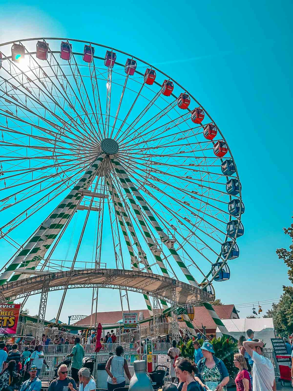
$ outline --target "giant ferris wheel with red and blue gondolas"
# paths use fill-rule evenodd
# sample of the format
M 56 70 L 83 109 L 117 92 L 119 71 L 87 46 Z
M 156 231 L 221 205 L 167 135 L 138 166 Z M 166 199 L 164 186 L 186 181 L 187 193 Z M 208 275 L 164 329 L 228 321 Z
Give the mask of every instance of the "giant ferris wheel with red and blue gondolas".
M 211 294 L 229 280 L 244 233 L 236 164 L 205 108 L 155 66 L 75 39 L 3 43 L 0 131 L 0 239 L 14 248 L 1 285 L 104 263 Z

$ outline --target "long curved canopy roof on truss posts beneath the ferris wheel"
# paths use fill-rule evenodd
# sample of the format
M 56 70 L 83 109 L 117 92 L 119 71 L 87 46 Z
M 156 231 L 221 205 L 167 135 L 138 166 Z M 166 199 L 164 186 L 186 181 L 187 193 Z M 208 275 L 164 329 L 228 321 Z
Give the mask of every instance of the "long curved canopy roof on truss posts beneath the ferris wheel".
M 85 288 L 98 285 L 101 288 L 126 289 L 128 291 L 158 296 L 171 300 L 171 288 L 176 288 L 178 305 L 197 305 L 202 301 L 214 300 L 214 296 L 188 283 L 153 273 L 119 269 L 83 269 L 52 272 L 32 276 L 23 280 L 1 285 L 0 292 L 13 300 L 41 292 L 43 284 L 49 281 L 49 291 Z

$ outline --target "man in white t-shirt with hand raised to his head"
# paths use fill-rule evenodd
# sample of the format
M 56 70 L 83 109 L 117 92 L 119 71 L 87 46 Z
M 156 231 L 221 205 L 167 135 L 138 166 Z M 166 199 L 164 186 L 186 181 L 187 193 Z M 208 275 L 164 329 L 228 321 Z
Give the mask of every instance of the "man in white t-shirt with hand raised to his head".
M 276 391 L 275 371 L 272 362 L 263 355 L 263 341 L 244 341 L 243 346 L 254 362 L 252 369 L 253 391 Z

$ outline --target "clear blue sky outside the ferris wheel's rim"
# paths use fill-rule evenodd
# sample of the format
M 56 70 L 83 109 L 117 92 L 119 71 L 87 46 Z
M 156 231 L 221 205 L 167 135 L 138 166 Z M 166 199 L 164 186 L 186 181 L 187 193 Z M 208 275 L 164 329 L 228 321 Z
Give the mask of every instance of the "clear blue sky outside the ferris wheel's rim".
M 119 48 L 188 86 L 211 113 L 229 142 L 245 203 L 240 257 L 229 264 L 230 280 L 215 283 L 227 304 L 279 298 L 288 283 L 275 249 L 290 244 L 282 227 L 292 215 L 292 8 L 289 1 L 1 3 L 1 42 L 66 37 Z M 46 318 L 55 316 L 59 297 L 50 294 Z M 138 295 L 130 305 L 145 308 Z M 37 313 L 38 296 L 27 306 Z M 88 295 L 80 300 L 80 291 L 70 291 L 61 319 L 90 307 Z M 98 308 L 120 309 L 118 292 L 102 291 Z M 243 308 L 240 317 L 250 313 Z

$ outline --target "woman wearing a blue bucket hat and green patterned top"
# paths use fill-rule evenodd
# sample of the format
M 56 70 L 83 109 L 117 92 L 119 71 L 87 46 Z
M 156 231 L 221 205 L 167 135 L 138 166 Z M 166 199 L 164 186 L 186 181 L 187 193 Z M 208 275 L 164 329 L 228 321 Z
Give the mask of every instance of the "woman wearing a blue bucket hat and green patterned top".
M 214 356 L 214 348 L 210 342 L 204 342 L 201 347 L 204 357 L 197 363 L 198 377 L 207 389 L 227 391 L 229 373 L 222 360 Z

